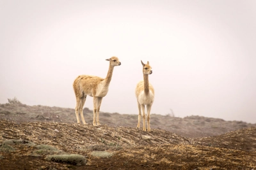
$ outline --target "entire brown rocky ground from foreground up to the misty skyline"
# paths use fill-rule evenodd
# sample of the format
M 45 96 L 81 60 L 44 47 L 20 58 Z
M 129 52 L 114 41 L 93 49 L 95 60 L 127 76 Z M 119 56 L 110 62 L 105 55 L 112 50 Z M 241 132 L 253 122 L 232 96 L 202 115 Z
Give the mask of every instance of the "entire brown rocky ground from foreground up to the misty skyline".
M 84 112 L 88 125 L 68 108 L 0 104 L 0 169 L 256 169 L 255 124 L 154 115 L 144 132 L 137 115 L 95 127 Z

